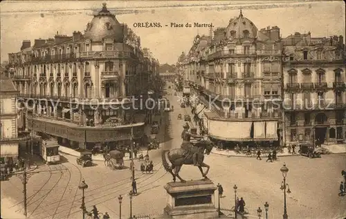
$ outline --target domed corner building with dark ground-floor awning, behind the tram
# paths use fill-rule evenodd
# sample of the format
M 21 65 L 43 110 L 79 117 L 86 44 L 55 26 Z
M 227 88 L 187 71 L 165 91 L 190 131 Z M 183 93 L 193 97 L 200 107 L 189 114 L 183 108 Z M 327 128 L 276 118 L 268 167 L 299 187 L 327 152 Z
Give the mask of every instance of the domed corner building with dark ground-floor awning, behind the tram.
M 147 54 L 140 37 L 119 23 L 105 3 L 84 34 L 57 33 L 35 39 L 33 46 L 23 41 L 19 53 L 9 54 L 21 120 L 27 129 L 80 148 L 123 144 L 131 126 L 136 139 L 143 137 L 147 111 L 134 111 L 134 106 L 147 98 L 159 66 Z

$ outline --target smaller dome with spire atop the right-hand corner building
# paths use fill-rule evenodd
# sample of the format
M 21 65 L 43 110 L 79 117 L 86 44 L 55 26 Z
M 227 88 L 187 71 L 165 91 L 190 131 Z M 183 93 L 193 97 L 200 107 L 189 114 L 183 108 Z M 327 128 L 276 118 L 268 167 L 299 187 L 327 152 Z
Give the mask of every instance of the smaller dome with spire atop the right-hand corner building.
M 242 9 L 240 9 L 239 17 L 230 19 L 230 23 L 226 28 L 227 39 L 239 39 L 239 38 L 256 38 L 257 27 L 255 24 L 243 16 Z

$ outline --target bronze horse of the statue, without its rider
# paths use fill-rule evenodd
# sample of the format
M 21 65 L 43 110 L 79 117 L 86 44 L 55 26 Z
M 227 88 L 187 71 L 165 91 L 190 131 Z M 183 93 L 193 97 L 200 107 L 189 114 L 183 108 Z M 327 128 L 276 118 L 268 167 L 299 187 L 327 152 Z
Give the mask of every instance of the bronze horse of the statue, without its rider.
M 197 152 L 198 157 L 197 161 L 199 163 L 199 171 L 201 171 L 203 178 L 208 179 L 207 174 L 210 169 L 210 166 L 203 162 L 204 154 L 209 155 L 212 151 L 212 147 L 214 144 L 209 140 L 200 140 L 194 147 L 186 153 L 184 149 L 172 149 L 170 151 L 165 150 L 162 152 L 162 163 L 167 172 L 170 172 L 173 176 L 173 181 L 176 182 L 176 177 L 181 180 L 181 182 L 185 182 L 180 175 L 179 171 L 181 170 L 181 166 L 185 165 L 193 165 L 192 155 Z M 170 163 L 169 163 L 169 162 Z M 202 167 L 206 167 L 206 173 L 203 173 Z

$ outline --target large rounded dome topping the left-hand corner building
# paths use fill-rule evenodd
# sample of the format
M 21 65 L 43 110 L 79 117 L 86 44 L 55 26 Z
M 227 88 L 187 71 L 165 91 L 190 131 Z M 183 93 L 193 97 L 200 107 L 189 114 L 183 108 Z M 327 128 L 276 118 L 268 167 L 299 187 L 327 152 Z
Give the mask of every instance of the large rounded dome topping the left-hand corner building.
M 102 41 L 104 37 L 111 37 L 116 43 L 122 43 L 123 26 L 116 16 L 107 10 L 106 3 L 102 5 L 102 10 L 98 12 L 98 15 L 94 15 L 91 22 L 87 24 L 84 38 L 91 39 L 91 41 Z

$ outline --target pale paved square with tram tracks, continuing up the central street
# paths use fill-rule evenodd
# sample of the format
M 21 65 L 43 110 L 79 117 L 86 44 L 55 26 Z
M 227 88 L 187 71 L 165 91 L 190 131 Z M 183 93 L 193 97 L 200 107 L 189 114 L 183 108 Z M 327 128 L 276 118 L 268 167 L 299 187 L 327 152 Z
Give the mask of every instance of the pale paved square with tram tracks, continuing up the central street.
M 177 148 L 181 144 L 183 120 L 177 120 L 179 113 L 190 113 L 190 108 L 180 108 L 176 97 L 168 96 L 174 111 L 167 113 L 165 122 L 169 131 L 165 135 L 165 143 L 161 149 Z M 175 100 L 174 100 L 175 99 Z M 163 124 L 164 126 L 165 124 Z M 161 128 L 161 132 L 164 129 Z M 161 133 L 163 135 L 163 133 Z M 172 180 L 161 165 L 161 149 L 150 151 L 154 161 L 153 174 L 142 174 L 136 171 L 138 196 L 132 200 L 133 213 L 162 213 L 166 204 L 163 186 Z M 75 166 L 75 158 L 65 156 L 61 165 L 42 166 L 39 170 L 69 169 L 51 173 L 33 175 L 28 183 L 28 211 L 30 218 L 80 218 L 81 191 L 78 184 L 85 178 L 89 188 L 86 190 L 86 207 L 91 209 L 96 204 L 99 211 L 107 211 L 111 218 L 119 218 L 119 194 L 122 200 L 122 216 L 129 216 L 129 197 L 131 189 L 130 171 L 124 169 L 111 171 L 104 167 L 103 162 L 97 166 L 82 169 Z M 283 162 L 289 168 L 287 182 L 292 191 L 287 198 L 289 218 L 342 218 L 346 217 L 346 196 L 338 197 L 338 186 L 342 180 L 340 172 L 346 169 L 345 154 L 325 155 L 320 159 L 309 159 L 302 156 L 280 158 L 280 161 L 266 163 L 255 158 L 227 158 L 221 155 L 209 155 L 206 163 L 211 169 L 209 178 L 224 187 L 225 198 L 221 199 L 221 207 L 230 208 L 234 204 L 233 185 L 239 188 L 237 195 L 244 197 L 246 207 L 252 215 L 256 209 L 264 209 L 264 202 L 270 204 L 269 218 L 282 218 L 283 193 L 280 190 L 282 174 L 280 167 Z M 125 162 L 129 166 L 129 162 Z M 139 164 L 136 164 L 136 168 Z M 201 173 L 194 166 L 183 166 L 181 177 L 185 180 L 200 179 Z M 46 184 L 44 184 L 47 182 Z M 53 189 L 52 189 L 53 188 Z M 10 196 L 20 202 L 22 200 L 20 180 L 11 178 L 9 182 L 1 182 L 1 196 Z M 31 196 L 41 189 L 35 197 Z M 52 190 L 51 190 L 52 189 Z M 19 205 L 20 206 L 20 205 Z M 15 208 L 13 208 L 15 209 Z M 68 217 L 69 216 L 69 217 Z M 250 217 L 251 218 L 251 217 Z

